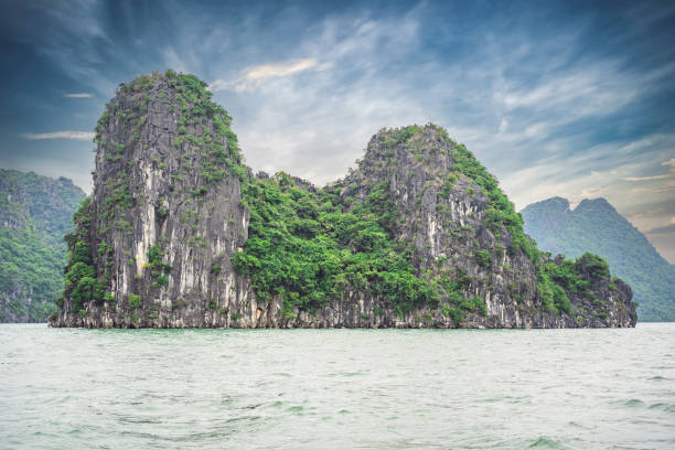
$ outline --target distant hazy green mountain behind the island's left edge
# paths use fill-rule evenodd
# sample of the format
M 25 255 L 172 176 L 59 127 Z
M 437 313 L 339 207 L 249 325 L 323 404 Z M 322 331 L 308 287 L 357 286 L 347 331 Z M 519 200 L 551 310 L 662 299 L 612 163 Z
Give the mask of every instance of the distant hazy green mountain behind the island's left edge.
M 0 322 L 45 322 L 56 309 L 63 237 L 84 197 L 68 179 L 0 169 Z

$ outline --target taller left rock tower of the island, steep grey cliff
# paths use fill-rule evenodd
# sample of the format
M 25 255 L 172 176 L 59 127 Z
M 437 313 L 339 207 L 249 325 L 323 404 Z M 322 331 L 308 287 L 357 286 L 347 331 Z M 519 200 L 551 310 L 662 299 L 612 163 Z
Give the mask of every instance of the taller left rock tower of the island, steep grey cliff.
M 231 258 L 247 237 L 249 171 L 232 118 L 205 87 L 173 71 L 141 75 L 106 106 L 94 192 L 67 236 L 73 257 L 52 323 L 223 326 L 221 310 L 242 314 L 231 300 L 247 285 Z

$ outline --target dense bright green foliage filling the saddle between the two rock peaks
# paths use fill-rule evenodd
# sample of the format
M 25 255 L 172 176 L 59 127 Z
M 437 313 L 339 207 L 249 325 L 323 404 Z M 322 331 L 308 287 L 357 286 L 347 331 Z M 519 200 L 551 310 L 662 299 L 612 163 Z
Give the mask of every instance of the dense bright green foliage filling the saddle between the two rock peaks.
M 401 312 L 438 301 L 416 276 L 411 250 L 392 239 L 386 190 L 350 211 L 336 192 L 302 189 L 285 173 L 253 179 L 244 193 L 250 236 L 235 268 L 251 277 L 261 299 L 283 298 L 286 314 L 325 306 L 346 287 L 388 298 Z

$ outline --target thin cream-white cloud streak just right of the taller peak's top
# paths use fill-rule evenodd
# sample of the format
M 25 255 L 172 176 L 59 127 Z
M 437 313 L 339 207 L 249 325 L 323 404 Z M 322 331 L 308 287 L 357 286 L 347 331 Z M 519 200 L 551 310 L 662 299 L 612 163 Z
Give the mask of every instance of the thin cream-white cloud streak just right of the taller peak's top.
M 309 69 L 325 69 L 330 64 L 319 64 L 317 60 L 308 57 L 303 60 L 289 60 L 280 63 L 260 64 L 245 69 L 237 79 L 226 82 L 216 79 L 210 84 L 212 92 L 234 89 L 236 92 L 255 90 L 265 81 L 276 77 L 285 77 Z

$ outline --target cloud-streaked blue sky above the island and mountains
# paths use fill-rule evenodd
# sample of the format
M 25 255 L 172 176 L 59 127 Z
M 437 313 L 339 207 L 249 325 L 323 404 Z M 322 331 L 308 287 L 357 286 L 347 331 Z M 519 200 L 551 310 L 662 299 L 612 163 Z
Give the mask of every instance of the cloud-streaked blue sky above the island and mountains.
M 436 122 L 522 208 L 604 196 L 675 261 L 675 3 L 3 1 L 0 165 L 90 189 L 121 82 L 206 81 L 247 163 L 318 184 Z

